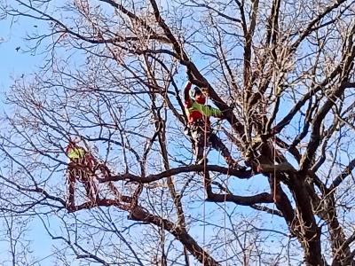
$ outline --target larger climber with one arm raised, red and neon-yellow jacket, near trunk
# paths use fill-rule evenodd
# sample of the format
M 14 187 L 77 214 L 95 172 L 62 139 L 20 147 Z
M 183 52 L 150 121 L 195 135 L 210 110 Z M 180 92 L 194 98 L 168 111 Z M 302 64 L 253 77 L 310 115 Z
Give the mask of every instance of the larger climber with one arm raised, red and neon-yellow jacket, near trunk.
M 229 153 L 220 138 L 212 132 L 210 127 L 209 117 L 223 118 L 223 113 L 217 108 L 205 106 L 206 97 L 202 90 L 199 87 L 194 87 L 193 89 L 191 87 L 192 83 L 190 81 L 186 82 L 184 98 L 188 126 L 193 137 L 195 163 L 202 164 L 204 162 L 204 147 L 210 144 L 222 154 L 229 167 L 245 169 L 233 160 L 231 153 Z M 205 136 L 207 139 L 205 139 Z

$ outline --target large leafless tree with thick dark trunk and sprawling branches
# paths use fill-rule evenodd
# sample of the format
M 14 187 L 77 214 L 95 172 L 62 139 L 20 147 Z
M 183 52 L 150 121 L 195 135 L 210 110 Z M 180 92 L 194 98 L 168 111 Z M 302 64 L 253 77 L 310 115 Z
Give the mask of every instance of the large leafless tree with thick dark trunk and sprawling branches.
M 7 92 L 3 211 L 39 217 L 67 265 L 353 265 L 354 7 L 3 4 L 47 53 Z M 245 170 L 215 152 L 193 164 L 186 80 L 224 113 L 217 135 Z M 102 168 L 98 200 L 78 185 L 67 209 L 73 137 Z

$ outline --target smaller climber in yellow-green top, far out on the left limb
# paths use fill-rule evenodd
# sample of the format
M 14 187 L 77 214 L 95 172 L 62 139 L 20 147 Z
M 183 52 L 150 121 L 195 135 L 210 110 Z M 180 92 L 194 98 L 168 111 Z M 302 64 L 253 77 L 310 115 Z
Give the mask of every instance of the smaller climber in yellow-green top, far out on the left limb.
M 86 191 L 86 196 L 95 203 L 99 200 L 98 187 L 94 183 L 95 166 L 98 164 L 95 158 L 85 151 L 85 149 L 70 140 L 66 149 L 69 162 L 67 164 L 67 182 L 68 182 L 68 197 L 67 208 L 75 209 L 75 182 L 78 180 L 83 183 Z

